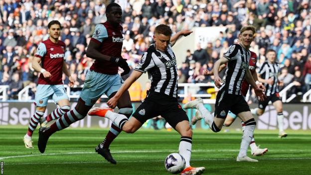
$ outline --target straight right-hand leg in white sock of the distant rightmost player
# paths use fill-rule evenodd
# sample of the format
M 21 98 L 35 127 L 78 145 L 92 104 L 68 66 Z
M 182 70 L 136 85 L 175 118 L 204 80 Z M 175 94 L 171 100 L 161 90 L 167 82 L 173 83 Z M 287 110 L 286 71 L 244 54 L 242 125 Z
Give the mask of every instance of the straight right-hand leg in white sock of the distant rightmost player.
M 274 95 L 275 96 L 275 95 Z M 284 115 L 283 115 L 283 104 L 282 101 L 277 97 L 273 97 L 271 99 L 273 106 L 276 108 L 278 116 L 278 126 L 279 126 L 279 137 L 283 138 L 283 137 L 287 137 L 287 133 L 284 131 Z

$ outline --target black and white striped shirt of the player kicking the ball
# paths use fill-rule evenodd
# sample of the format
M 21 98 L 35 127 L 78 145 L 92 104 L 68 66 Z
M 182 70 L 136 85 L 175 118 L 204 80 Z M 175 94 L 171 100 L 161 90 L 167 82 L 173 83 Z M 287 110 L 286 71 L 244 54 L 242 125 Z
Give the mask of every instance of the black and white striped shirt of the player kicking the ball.
M 177 98 L 177 65 L 170 44 L 165 52 L 155 49 L 155 44 L 151 44 L 135 70 L 148 72 L 151 80 L 150 92 Z

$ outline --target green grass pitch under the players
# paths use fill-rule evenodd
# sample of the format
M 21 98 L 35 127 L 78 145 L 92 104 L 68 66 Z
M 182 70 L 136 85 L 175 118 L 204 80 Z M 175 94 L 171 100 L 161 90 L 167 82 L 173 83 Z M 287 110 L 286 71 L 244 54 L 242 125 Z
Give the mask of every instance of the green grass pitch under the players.
M 230 129 L 230 128 L 229 128 Z M 4 175 L 169 175 L 165 157 L 178 152 L 179 135 L 175 131 L 141 129 L 135 134 L 122 133 L 111 145 L 117 165 L 95 153 L 95 147 L 108 130 L 66 129 L 49 139 L 44 154 L 26 149 L 22 137 L 26 127 L 0 128 L 0 161 Z M 285 139 L 277 131 L 255 131 L 257 145 L 269 152 L 258 163 L 235 161 L 241 132 L 212 133 L 194 130 L 191 165 L 205 167 L 206 175 L 311 175 L 310 131 L 288 131 Z M 248 152 L 250 155 L 250 149 Z M 252 157 L 254 158 L 254 157 Z

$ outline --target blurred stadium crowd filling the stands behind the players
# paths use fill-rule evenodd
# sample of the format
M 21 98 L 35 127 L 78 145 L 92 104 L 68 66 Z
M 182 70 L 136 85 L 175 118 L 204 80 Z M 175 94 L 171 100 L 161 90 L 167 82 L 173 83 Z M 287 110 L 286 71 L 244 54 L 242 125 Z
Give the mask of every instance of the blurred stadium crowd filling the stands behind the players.
M 75 87 L 84 83 L 93 60 L 86 47 L 95 25 L 106 21 L 110 0 L 0 0 L 0 85 L 9 85 L 8 96 L 30 85 L 34 97 L 38 73 L 31 60 L 39 42 L 48 38 L 47 23 L 59 20 L 61 40 L 66 44 L 66 63 Z M 198 43 L 186 51 L 178 70 L 179 83 L 211 83 L 203 76 L 213 63 L 237 43 L 244 25 L 257 28 L 251 49 L 258 55 L 257 66 L 274 49 L 282 65 L 282 87 L 295 82 L 292 94 L 311 89 L 311 2 L 309 0 L 115 0 L 123 9 L 123 52 L 133 68 L 153 41 L 155 26 L 167 24 L 173 34 L 181 29 L 226 26 L 219 38 L 206 48 Z M 223 73 L 224 74 L 224 73 Z M 65 84 L 68 80 L 63 76 Z M 139 84 L 136 85 L 140 87 Z M 135 87 L 134 87 L 135 88 Z M 75 93 L 72 91 L 72 93 Z M 78 93 L 78 92 L 77 92 Z M 207 93 L 203 90 L 202 93 Z M 139 101 L 139 99 L 138 99 Z

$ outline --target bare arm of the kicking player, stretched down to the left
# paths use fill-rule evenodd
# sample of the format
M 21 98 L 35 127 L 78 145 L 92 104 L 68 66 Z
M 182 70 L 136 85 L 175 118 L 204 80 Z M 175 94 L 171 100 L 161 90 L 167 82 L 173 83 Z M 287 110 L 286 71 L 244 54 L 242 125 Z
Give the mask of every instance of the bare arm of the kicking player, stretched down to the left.
M 141 77 L 143 72 L 134 70 L 129 78 L 125 80 L 121 88 L 118 90 L 115 96 L 113 96 L 111 99 L 108 100 L 107 105 L 110 108 L 115 108 L 118 104 L 118 100 L 121 97 L 121 95 L 130 88 L 130 86 L 139 78 Z

